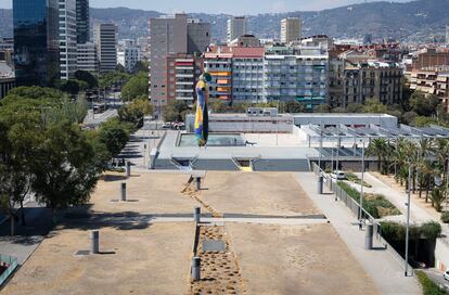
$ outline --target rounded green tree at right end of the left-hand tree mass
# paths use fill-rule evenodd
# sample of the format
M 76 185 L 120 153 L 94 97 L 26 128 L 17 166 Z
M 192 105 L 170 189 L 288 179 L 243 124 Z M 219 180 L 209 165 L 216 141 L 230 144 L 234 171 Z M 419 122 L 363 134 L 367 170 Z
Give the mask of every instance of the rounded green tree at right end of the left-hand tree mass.
M 117 118 L 106 120 L 100 126 L 99 141 L 104 144 L 112 157 L 116 157 L 128 142 L 131 127 Z

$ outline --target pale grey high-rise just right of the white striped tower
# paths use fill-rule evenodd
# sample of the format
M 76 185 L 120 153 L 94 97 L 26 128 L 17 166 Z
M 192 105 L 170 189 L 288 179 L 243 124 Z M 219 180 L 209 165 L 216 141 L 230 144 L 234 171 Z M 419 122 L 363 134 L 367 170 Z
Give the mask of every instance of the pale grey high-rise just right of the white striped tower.
M 93 38 L 100 72 L 112 72 L 117 66 L 117 27 L 114 24 L 95 24 Z

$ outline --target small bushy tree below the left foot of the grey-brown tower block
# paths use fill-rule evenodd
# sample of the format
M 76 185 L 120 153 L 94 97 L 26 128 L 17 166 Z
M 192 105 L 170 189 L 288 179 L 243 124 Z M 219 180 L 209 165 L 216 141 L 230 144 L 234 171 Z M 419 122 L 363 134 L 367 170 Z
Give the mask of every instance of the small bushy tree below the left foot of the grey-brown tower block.
M 153 107 L 150 104 L 147 98 L 137 98 L 129 104 L 124 105 L 118 110 L 118 117 L 121 121 L 132 124 L 134 128 L 141 128 L 143 126 L 143 118 L 145 115 L 150 115 L 153 112 Z

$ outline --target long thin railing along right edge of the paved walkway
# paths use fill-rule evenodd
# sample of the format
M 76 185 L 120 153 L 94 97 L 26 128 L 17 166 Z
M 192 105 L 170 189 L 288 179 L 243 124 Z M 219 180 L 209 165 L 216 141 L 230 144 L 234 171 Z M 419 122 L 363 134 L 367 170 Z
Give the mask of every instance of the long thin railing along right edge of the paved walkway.
M 328 174 L 325 174 L 325 171 L 323 171 L 321 168 L 318 167 L 317 164 L 312 164 L 312 169 L 313 172 L 319 176 L 321 175 L 324 178 L 324 182 L 328 187 L 329 190 L 331 190 L 335 196 L 337 198 L 339 198 L 345 205 L 346 207 L 348 207 L 350 209 L 350 211 L 359 217 L 360 213 L 361 216 L 359 217 L 359 219 L 364 220 L 364 221 L 369 221 L 374 226 L 374 238 L 385 247 L 386 251 L 388 251 L 393 258 L 398 261 L 401 265 L 406 264 L 406 260 L 402 258 L 402 256 L 396 252 L 396 249 L 388 244 L 388 242 L 382 236 L 382 226 L 381 223 L 374 218 L 372 217 L 365 209 L 361 208 L 360 210 L 360 205 L 359 203 L 357 203 L 357 201 L 355 201 L 352 197 L 350 197 L 337 183 L 336 180 L 332 179 L 331 176 L 329 176 Z M 409 265 L 409 269 L 412 271 L 411 274 L 413 274 L 413 268 Z

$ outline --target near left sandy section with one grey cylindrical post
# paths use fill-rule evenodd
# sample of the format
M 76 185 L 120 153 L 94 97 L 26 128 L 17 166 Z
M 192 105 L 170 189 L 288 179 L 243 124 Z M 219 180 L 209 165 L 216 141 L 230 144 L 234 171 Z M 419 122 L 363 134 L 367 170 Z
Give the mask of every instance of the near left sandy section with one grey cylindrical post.
M 100 251 L 115 254 L 75 257 L 89 249 L 89 232 L 55 231 L 1 294 L 185 294 L 193 236 L 191 223 L 104 228 Z

